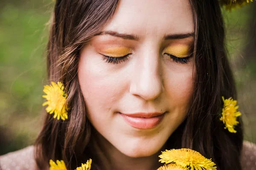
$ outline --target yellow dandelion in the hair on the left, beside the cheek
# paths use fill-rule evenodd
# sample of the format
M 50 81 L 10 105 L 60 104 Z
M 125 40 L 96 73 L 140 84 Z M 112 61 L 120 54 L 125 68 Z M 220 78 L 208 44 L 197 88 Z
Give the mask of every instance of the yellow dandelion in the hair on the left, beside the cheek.
M 44 98 L 47 99 L 46 102 L 43 103 L 43 106 L 48 105 L 46 108 L 47 113 L 54 113 L 53 118 L 59 120 L 67 119 L 67 106 L 65 106 L 65 102 L 67 100 L 67 94 L 64 92 L 64 86 L 61 82 L 52 82 L 52 85 L 44 86 Z

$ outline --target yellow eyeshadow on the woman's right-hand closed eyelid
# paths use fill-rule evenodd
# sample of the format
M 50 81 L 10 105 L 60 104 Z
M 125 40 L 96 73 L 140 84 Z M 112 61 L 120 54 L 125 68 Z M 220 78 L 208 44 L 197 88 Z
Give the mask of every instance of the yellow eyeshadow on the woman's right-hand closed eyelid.
M 190 50 L 190 46 L 188 45 L 172 45 L 169 47 L 166 47 L 163 50 L 163 54 L 171 54 L 175 57 L 188 57 L 189 56 L 189 50 Z

